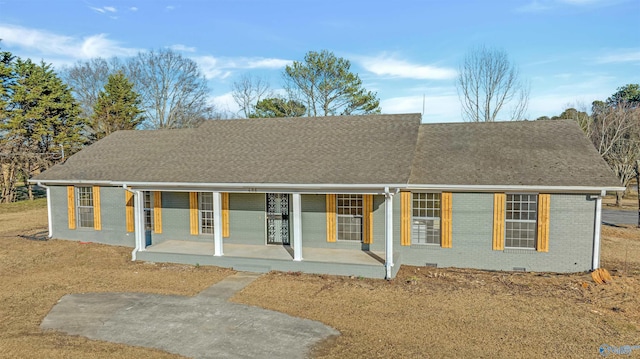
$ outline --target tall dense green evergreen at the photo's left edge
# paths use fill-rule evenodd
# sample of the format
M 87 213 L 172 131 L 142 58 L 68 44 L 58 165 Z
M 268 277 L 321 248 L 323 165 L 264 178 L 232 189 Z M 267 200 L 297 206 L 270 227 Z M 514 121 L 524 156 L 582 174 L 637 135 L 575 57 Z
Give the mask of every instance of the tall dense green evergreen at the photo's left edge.
M 63 153 L 80 149 L 85 143 L 84 122 L 70 89 L 44 62 L 8 62 L 0 87 L 0 201 L 12 202 L 17 180 L 27 180 L 60 161 Z

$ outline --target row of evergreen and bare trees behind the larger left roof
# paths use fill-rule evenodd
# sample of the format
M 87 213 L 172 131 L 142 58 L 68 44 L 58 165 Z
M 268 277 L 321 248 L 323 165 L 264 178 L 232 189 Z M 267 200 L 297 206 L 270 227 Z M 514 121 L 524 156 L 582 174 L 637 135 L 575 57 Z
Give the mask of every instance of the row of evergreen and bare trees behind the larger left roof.
M 238 114 L 218 110 L 195 61 L 170 50 L 95 58 L 62 68 L 0 51 L 0 203 L 65 157 L 118 130 L 195 127 L 229 117 L 379 113 L 348 60 L 310 51 L 286 66 L 285 91 L 245 76 L 232 86 Z

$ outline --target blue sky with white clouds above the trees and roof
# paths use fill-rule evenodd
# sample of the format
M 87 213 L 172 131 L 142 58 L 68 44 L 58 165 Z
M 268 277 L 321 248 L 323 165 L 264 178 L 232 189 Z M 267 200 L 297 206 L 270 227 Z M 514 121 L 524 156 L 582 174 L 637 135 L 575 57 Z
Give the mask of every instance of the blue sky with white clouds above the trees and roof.
M 198 62 L 211 100 L 237 111 L 244 74 L 281 87 L 285 65 L 323 49 L 351 61 L 383 113 L 459 122 L 465 53 L 505 50 L 531 84 L 528 118 L 640 83 L 639 0 L 0 0 L 0 48 L 57 68 L 169 47 Z

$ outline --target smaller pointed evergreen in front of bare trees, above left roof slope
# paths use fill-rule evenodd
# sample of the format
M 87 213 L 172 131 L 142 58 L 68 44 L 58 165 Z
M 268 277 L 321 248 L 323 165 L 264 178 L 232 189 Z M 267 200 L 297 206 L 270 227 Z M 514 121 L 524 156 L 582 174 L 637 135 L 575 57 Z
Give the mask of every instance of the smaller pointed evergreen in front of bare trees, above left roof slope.
M 110 75 L 91 117 L 93 137 L 99 140 L 118 130 L 136 129 L 144 121 L 140 103 L 140 95 L 122 72 Z

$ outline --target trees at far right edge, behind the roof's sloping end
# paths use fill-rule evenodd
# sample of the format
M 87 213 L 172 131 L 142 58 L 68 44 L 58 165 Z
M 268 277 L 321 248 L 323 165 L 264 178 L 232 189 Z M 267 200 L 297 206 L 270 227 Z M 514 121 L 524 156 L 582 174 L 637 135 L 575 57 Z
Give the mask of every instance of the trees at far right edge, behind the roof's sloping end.
M 622 86 L 606 100 L 594 101 L 590 110 L 568 108 L 538 120 L 575 120 L 628 190 L 633 178 L 640 177 L 640 85 Z M 617 193 L 617 205 L 623 194 Z

